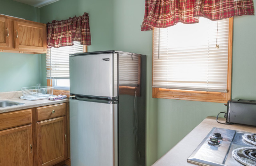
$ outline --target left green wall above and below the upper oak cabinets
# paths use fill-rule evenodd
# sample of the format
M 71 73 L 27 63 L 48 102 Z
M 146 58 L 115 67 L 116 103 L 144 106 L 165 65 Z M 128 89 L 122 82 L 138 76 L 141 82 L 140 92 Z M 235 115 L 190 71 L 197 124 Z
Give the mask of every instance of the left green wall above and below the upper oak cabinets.
M 0 0 L 0 14 L 40 21 L 39 8 Z M 41 55 L 0 52 L 0 92 L 17 91 L 42 81 Z

